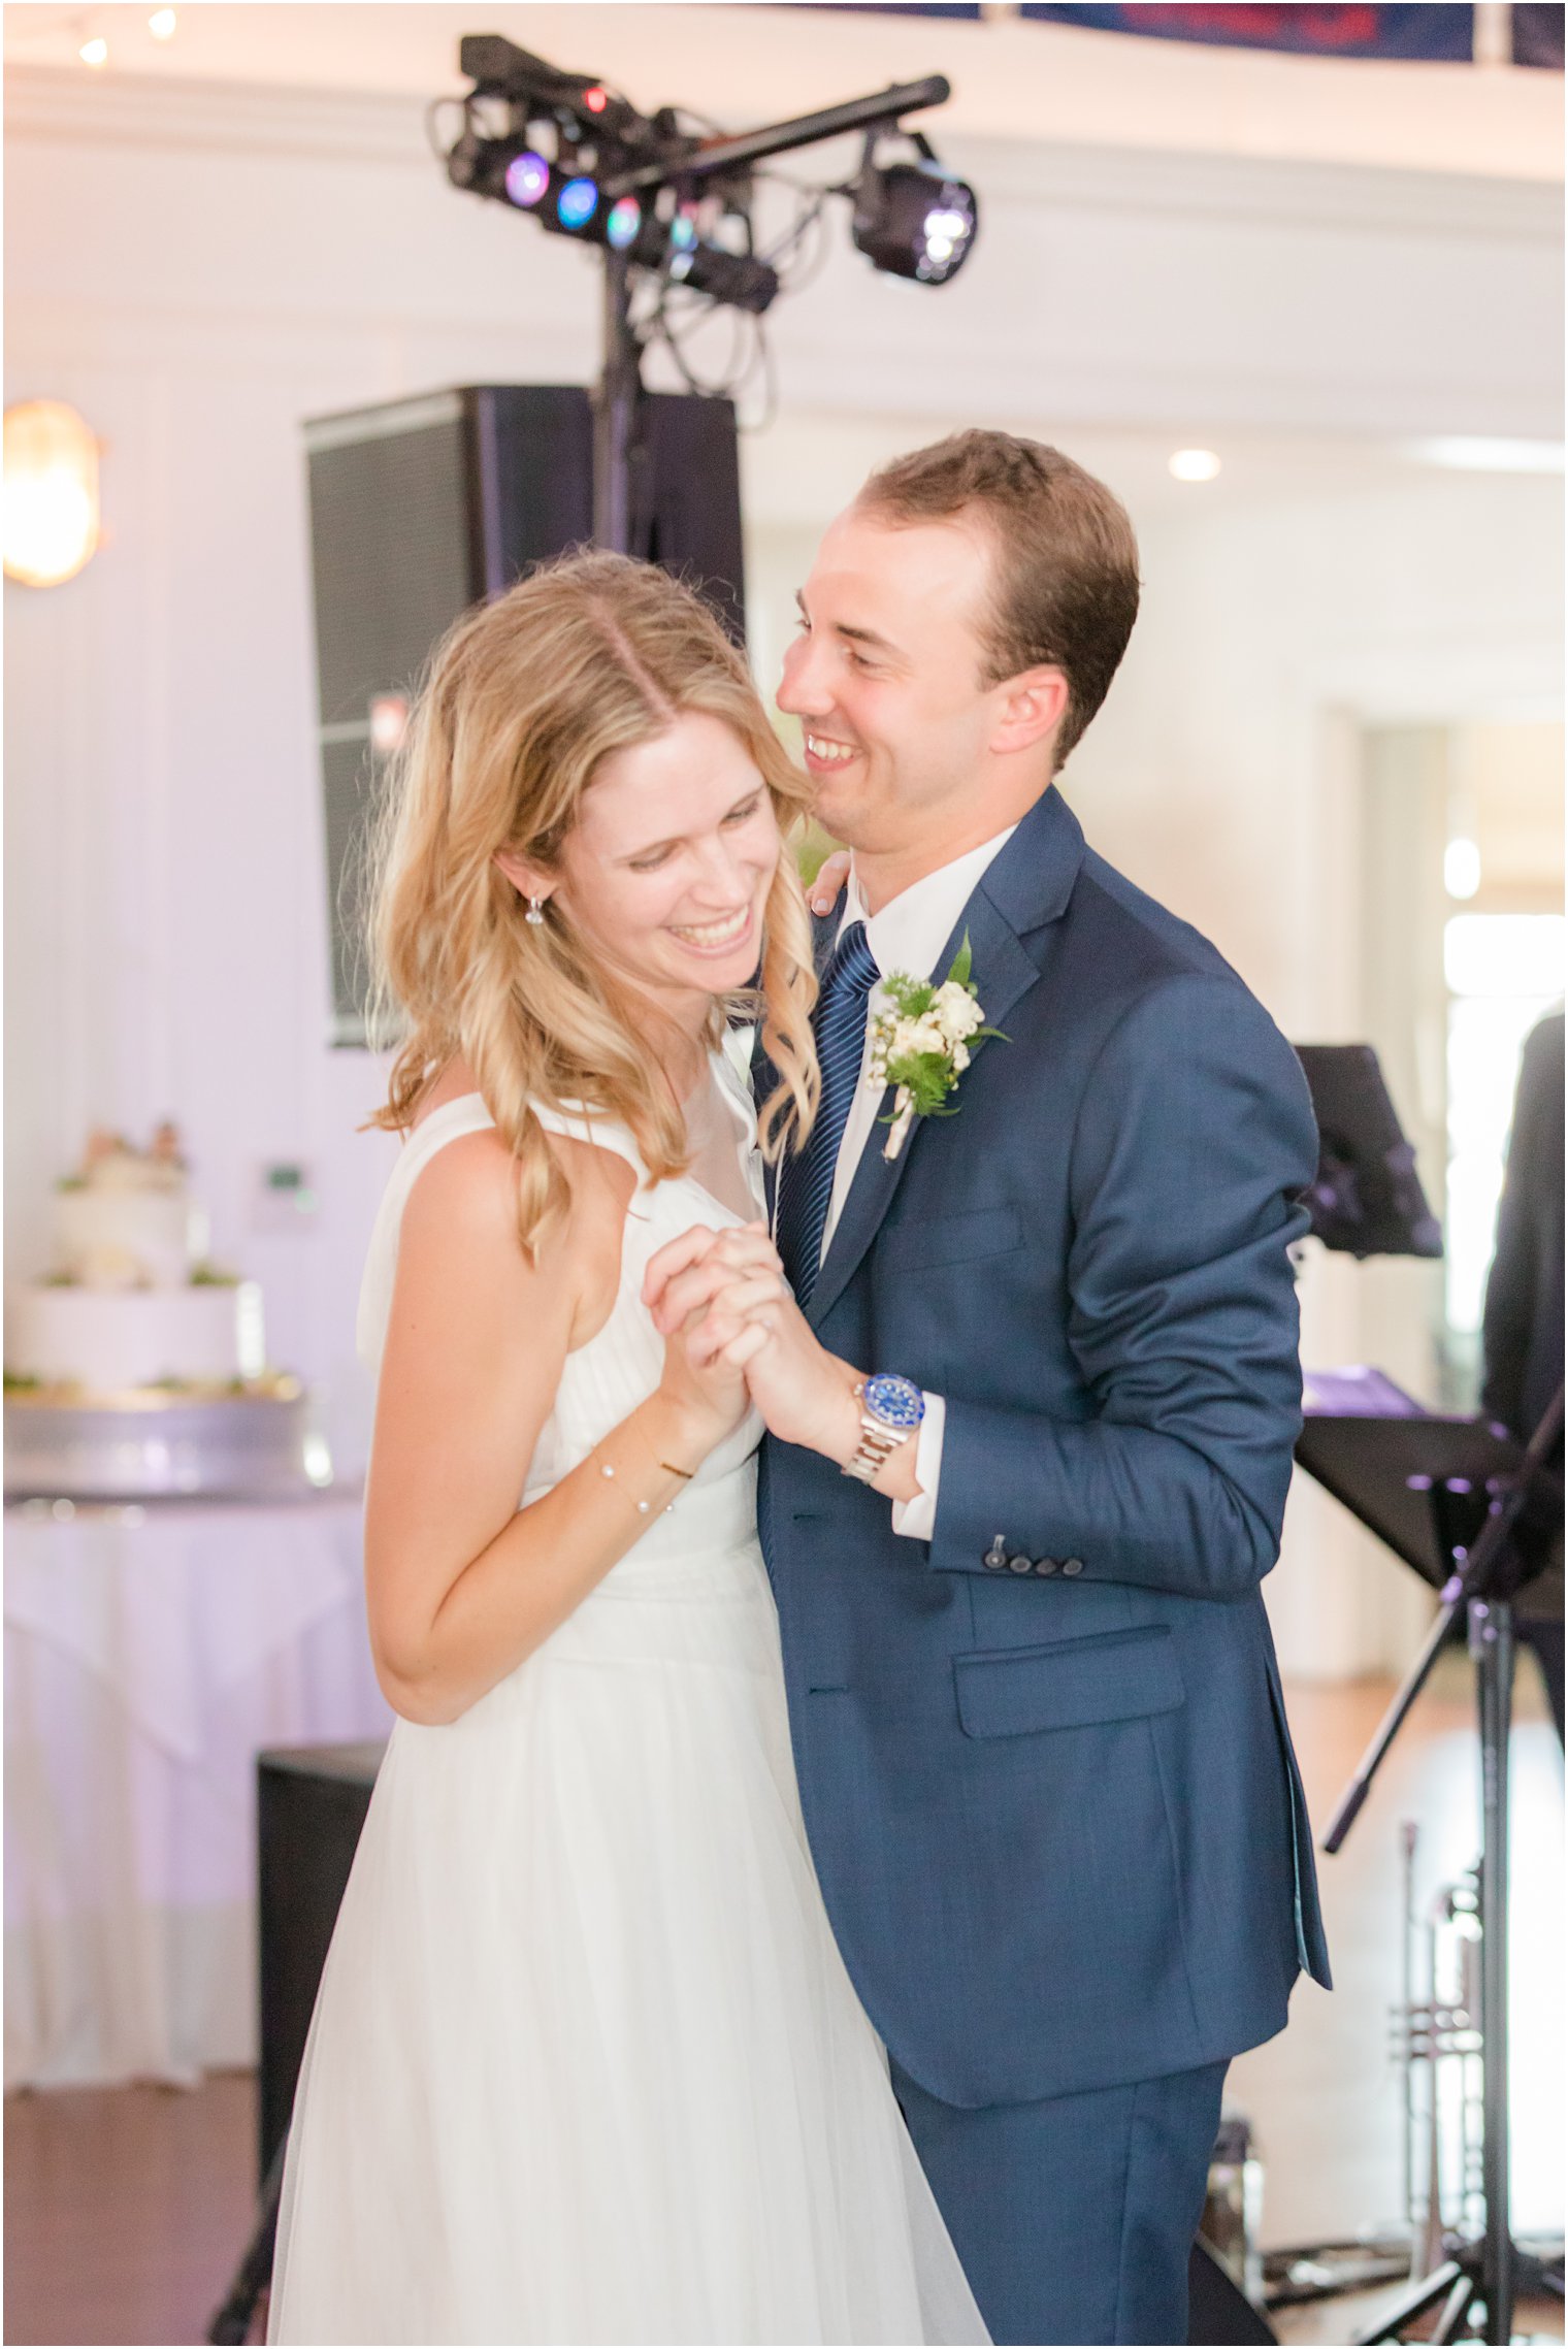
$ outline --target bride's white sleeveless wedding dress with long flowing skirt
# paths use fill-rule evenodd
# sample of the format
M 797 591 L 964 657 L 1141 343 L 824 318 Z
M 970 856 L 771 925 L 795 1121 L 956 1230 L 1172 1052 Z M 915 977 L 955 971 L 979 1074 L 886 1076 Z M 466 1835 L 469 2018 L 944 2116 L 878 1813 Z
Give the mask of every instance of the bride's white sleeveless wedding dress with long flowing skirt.
M 714 1055 L 728 1189 L 751 1106 Z M 380 1210 L 380 1355 L 420 1170 Z M 648 1257 L 739 1221 L 629 1158 L 622 1283 L 568 1355 L 523 1501 L 657 1386 Z M 739 1172 L 744 1170 L 744 1174 Z M 300 2069 L 275 2342 L 984 2342 L 812 1875 L 749 1419 L 526 1663 L 448 1727 L 397 1722 Z

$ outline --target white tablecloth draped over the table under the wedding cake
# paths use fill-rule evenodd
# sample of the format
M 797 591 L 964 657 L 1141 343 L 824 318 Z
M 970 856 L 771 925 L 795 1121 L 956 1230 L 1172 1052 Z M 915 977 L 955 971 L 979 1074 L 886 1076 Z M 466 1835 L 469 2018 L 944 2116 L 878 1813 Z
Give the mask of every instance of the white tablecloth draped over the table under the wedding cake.
M 7 1510 L 7 2088 L 256 2060 L 256 1752 L 390 1727 L 359 1525 Z

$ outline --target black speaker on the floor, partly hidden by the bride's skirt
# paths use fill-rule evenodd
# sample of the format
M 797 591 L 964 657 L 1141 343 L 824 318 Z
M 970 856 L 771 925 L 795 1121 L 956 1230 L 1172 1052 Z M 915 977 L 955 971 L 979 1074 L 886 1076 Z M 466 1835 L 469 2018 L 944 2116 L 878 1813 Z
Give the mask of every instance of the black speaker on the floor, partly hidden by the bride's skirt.
M 305 2034 L 383 1743 L 279 1745 L 256 1757 L 261 1957 L 258 2178 L 293 2114 Z

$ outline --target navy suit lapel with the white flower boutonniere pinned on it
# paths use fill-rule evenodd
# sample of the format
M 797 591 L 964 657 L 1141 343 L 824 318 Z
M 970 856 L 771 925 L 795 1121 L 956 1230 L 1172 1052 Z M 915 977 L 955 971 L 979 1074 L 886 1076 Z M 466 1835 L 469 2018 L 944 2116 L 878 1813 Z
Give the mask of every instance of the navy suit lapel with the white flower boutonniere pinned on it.
M 969 949 L 974 954 L 974 968 L 969 975 L 974 980 L 981 1010 L 986 1012 L 986 1027 L 1005 1029 L 1007 1012 L 1040 977 L 1040 965 L 1023 947 L 1023 937 L 1056 921 L 1066 911 L 1082 855 L 1084 836 L 1077 827 L 1077 817 L 1063 801 L 1061 792 L 1052 785 L 1045 799 L 1028 810 L 1014 836 L 991 862 L 967 907 L 953 923 L 953 935 L 932 968 L 934 972 L 946 975 L 965 933 L 969 933 Z M 1007 1045 L 988 1043 L 981 1050 L 1007 1052 Z M 962 1088 L 965 1081 L 960 1078 L 958 1116 L 962 1116 Z M 885 1116 L 890 1106 L 892 1092 L 883 1097 L 878 1118 Z M 861 1160 L 854 1170 L 854 1182 L 850 1184 L 850 1196 L 845 1198 L 843 1214 L 833 1226 L 829 1252 L 822 1259 L 822 1271 L 817 1273 L 817 1285 L 805 1308 L 805 1318 L 812 1327 L 822 1327 L 824 1315 L 831 1313 L 859 1271 L 866 1250 L 878 1236 L 883 1217 L 892 1207 L 904 1170 L 920 1149 L 922 1125 L 925 1120 L 915 1118 L 913 1128 L 904 1137 L 904 1149 L 892 1163 L 883 1156 L 887 1130 L 883 1125 L 871 1128 L 871 1137 L 866 1139 L 866 1149 L 861 1151 Z

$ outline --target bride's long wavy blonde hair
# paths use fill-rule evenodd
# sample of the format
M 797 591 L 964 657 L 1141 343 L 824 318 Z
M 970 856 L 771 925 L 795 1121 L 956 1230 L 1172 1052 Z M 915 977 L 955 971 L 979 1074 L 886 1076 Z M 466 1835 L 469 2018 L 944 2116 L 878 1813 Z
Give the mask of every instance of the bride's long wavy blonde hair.
M 397 1022 L 401 1043 L 371 1125 L 406 1132 L 462 1055 L 516 1158 L 528 1254 L 568 1205 L 535 1102 L 617 1118 L 655 1182 L 683 1172 L 690 1149 L 681 1104 L 638 1038 L 638 1008 L 559 897 L 542 923 L 526 921 L 495 853 L 556 869 L 599 763 L 688 709 L 732 728 L 789 839 L 805 778 L 707 604 L 653 564 L 566 554 L 448 630 L 390 775 L 371 853 L 373 1027 Z M 718 1043 L 730 1012 L 761 1017 L 779 1076 L 763 1113 L 770 1158 L 798 1146 L 817 1109 L 815 998 L 810 918 L 786 846 L 763 911 L 758 987 L 716 1001 L 709 1029 Z

